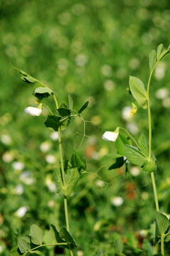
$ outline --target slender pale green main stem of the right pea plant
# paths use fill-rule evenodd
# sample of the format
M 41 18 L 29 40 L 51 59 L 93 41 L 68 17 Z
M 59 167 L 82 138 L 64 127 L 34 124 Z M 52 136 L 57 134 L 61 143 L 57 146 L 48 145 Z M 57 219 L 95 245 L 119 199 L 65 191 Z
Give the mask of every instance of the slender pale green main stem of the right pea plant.
M 157 63 L 154 65 L 154 68 L 156 67 L 156 65 L 157 65 Z M 151 78 L 152 78 L 154 68 L 152 69 L 152 71 L 149 75 L 149 80 L 147 82 L 147 112 L 148 112 L 148 127 L 149 127 L 149 160 L 151 159 L 151 156 L 152 156 L 152 122 L 151 122 L 151 110 L 150 110 L 150 102 L 149 102 L 149 87 L 150 87 L 150 82 L 151 82 Z M 156 206 L 156 210 L 159 211 L 159 203 L 158 203 L 158 197 L 157 197 L 157 186 L 156 186 L 156 183 L 155 183 L 154 172 L 153 171 L 151 173 L 151 178 L 152 178 L 152 186 L 153 186 L 153 190 L 154 190 L 155 206 Z

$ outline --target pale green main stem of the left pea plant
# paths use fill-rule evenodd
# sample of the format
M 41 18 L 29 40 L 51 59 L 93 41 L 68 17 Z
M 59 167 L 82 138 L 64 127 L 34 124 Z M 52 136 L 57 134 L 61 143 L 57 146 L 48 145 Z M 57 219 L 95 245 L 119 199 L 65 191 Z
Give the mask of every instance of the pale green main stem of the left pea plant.
M 52 95 L 54 100 L 55 100 L 55 105 L 56 108 L 59 108 L 57 99 L 55 97 L 55 95 Z M 63 185 L 65 186 L 66 184 L 66 178 L 65 178 L 65 172 L 64 172 L 64 162 L 63 162 L 63 157 L 62 157 L 62 136 L 61 136 L 61 129 L 60 127 L 58 128 L 58 141 L 59 141 L 59 152 L 60 152 L 60 163 L 61 163 L 61 169 L 62 169 L 62 181 L 63 181 Z M 67 208 L 67 197 L 64 196 L 64 212 L 65 212 L 65 220 L 66 220 L 66 227 L 67 230 L 69 232 L 69 215 L 68 215 L 68 208 Z M 69 250 L 70 255 L 74 255 L 72 250 Z

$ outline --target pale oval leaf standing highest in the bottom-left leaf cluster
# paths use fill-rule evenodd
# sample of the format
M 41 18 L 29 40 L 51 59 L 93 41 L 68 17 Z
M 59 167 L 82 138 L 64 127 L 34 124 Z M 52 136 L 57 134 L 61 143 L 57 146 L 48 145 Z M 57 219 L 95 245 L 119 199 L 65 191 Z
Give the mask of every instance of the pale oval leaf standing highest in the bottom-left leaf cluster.
M 30 235 L 31 235 L 31 242 L 35 245 L 41 245 L 43 238 L 44 238 L 44 233 L 38 225 L 31 225 L 30 226 Z

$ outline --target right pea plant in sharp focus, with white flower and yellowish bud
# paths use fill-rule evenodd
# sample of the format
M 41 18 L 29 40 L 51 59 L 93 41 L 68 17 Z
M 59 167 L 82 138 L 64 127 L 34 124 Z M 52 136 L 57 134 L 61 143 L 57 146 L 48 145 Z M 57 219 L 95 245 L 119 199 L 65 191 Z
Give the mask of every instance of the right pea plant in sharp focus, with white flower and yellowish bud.
M 148 127 L 149 127 L 149 141 L 145 137 L 145 134 L 140 134 L 139 139 L 136 141 L 134 137 L 128 132 L 127 129 L 123 127 L 117 127 L 115 132 L 105 132 L 103 134 L 103 139 L 106 141 L 115 142 L 115 147 L 117 153 L 115 156 L 115 163 L 110 166 L 109 169 L 120 168 L 125 164 L 126 172 L 128 172 L 128 166 L 134 164 L 140 166 L 143 171 L 151 176 L 152 186 L 154 191 L 154 201 L 156 206 L 156 218 L 155 218 L 155 242 L 154 242 L 154 252 L 152 255 L 158 255 L 159 253 L 159 243 L 161 244 L 161 254 L 164 256 L 164 242 L 169 242 L 170 240 L 170 225 L 169 218 L 166 217 L 159 210 L 159 201 L 157 197 L 157 186 L 155 183 L 154 174 L 157 171 L 157 159 L 152 152 L 152 119 L 151 119 L 151 107 L 150 107 L 150 97 L 149 97 L 149 87 L 152 80 L 152 75 L 157 64 L 170 53 L 170 46 L 166 50 L 163 50 L 163 44 L 160 44 L 156 50 L 152 50 L 149 53 L 149 79 L 147 82 L 147 90 L 145 85 L 139 78 L 130 76 L 128 91 L 134 97 L 135 102 L 137 102 L 140 107 L 147 110 L 148 114 Z M 132 102 L 132 110 L 130 114 L 135 114 L 137 112 L 137 106 Z

